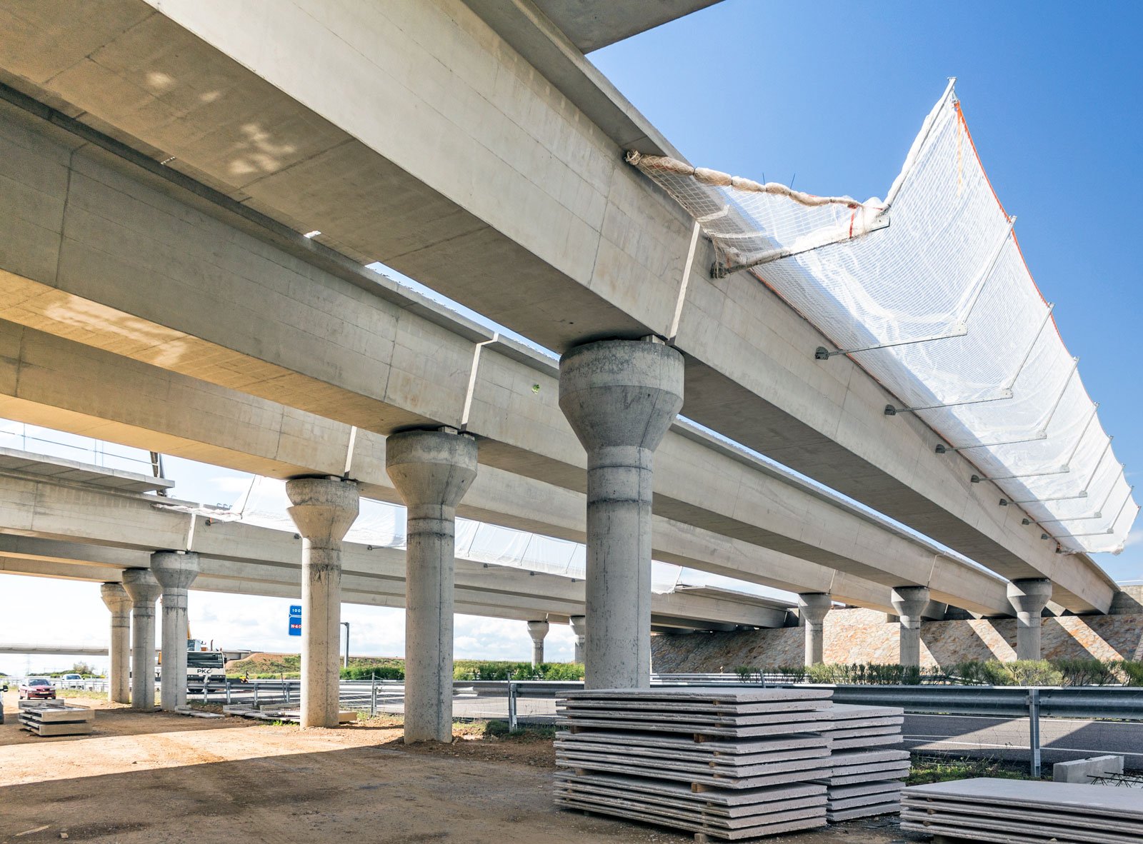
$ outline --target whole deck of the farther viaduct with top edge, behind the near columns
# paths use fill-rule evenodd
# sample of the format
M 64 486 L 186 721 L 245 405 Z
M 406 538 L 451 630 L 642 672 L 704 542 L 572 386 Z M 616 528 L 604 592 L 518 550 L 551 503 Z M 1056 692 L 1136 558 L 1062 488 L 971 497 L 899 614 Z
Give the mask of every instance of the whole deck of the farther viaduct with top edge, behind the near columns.
M 171 509 L 182 504 L 177 499 L 61 480 L 59 466 L 69 463 L 27 456 L 22 472 L 0 469 L 0 571 L 115 581 L 125 569 L 150 568 L 154 552 L 177 549 L 198 555 L 197 589 L 299 594 L 301 540 L 295 534 Z M 91 466 L 86 472 L 98 476 L 104 469 Z M 141 487 L 155 485 L 155 479 L 136 477 Z M 455 564 L 458 612 L 560 624 L 583 614 L 583 579 L 463 558 Z M 405 605 L 403 550 L 343 542 L 342 572 L 346 602 Z M 722 597 L 711 597 L 716 594 Z M 653 595 L 652 613 L 660 629 L 786 622 L 781 602 L 717 589 Z

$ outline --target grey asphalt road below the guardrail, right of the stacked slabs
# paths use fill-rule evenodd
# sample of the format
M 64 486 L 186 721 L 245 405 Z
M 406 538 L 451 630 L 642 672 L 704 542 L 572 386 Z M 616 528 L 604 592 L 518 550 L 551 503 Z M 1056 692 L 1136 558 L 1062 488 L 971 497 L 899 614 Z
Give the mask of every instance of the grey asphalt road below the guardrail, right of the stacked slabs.
M 1028 718 L 905 715 L 904 748 L 914 753 L 1029 758 Z M 1143 722 L 1040 718 L 1040 759 L 1056 762 L 1116 754 L 1124 766 L 1143 770 Z

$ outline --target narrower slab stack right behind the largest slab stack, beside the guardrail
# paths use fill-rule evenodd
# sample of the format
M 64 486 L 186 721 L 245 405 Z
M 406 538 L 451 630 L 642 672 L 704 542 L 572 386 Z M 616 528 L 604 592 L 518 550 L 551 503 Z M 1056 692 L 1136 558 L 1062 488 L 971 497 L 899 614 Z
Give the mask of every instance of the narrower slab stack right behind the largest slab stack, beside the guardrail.
M 830 823 L 896 814 L 901 811 L 901 779 L 909 775 L 909 751 L 893 749 L 902 741 L 904 710 L 890 706 L 834 704 L 822 725 L 830 739 L 833 770 L 821 780 L 826 787 L 825 818 Z

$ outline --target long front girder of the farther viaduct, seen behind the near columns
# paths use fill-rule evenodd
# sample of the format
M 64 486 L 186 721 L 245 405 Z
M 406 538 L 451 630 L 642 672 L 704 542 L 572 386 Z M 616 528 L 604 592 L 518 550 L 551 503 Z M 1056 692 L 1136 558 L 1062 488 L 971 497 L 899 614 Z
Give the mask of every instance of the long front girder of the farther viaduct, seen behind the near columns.
M 203 516 L 158 509 L 157 504 L 166 503 L 0 474 L 3 568 L 19 570 L 19 561 L 26 560 L 35 562 L 37 571 L 46 576 L 74 577 L 73 565 L 80 562 L 95 572 L 94 579 L 114 580 L 114 570 L 149 568 L 151 550 L 174 548 L 199 554 L 202 573 L 195 586 L 203 578 L 299 582 L 302 542 L 294 534 L 241 522 L 208 525 Z M 342 570 L 346 590 L 378 592 L 403 601 L 402 550 L 343 542 Z M 543 612 L 570 616 L 583 611 L 582 579 L 457 560 L 456 585 L 464 590 L 461 600 L 465 603 L 517 606 L 530 613 L 525 620 Z M 696 621 L 780 627 L 785 620 L 780 610 L 698 595 L 653 595 L 652 608 L 653 612 L 692 616 Z

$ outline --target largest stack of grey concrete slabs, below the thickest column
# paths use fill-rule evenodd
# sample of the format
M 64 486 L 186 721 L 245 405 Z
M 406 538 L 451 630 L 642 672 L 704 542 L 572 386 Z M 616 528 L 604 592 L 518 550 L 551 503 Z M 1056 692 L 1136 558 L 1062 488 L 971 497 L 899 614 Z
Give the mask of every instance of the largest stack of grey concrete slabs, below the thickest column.
M 825 825 L 825 689 L 618 689 L 560 701 L 555 803 L 742 841 Z

